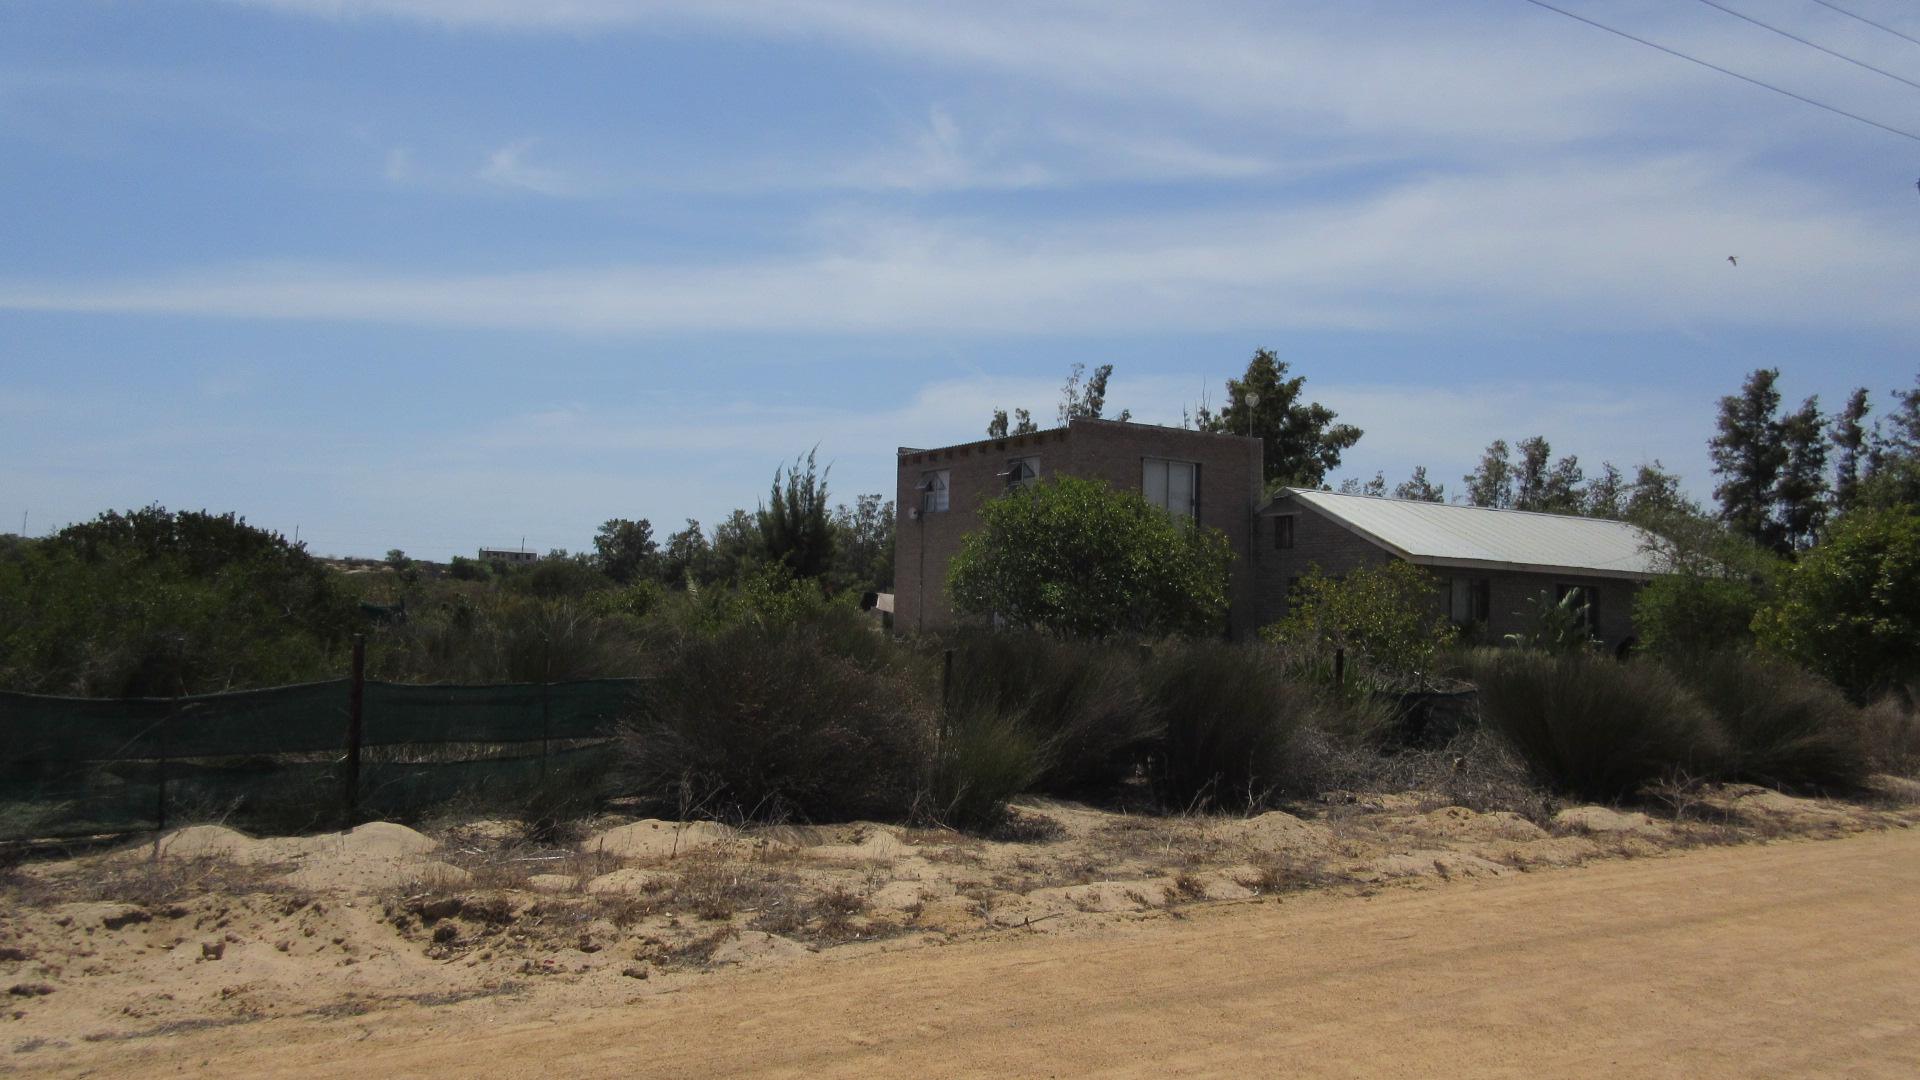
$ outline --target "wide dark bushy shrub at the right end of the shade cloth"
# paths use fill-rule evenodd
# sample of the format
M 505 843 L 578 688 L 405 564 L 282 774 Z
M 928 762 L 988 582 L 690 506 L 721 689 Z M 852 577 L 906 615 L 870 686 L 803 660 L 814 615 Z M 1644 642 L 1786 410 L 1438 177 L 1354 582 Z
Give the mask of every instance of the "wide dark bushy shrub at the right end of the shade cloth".
M 714 817 L 906 817 L 933 742 L 924 686 L 831 646 L 806 625 L 682 640 L 624 740 L 630 786 Z

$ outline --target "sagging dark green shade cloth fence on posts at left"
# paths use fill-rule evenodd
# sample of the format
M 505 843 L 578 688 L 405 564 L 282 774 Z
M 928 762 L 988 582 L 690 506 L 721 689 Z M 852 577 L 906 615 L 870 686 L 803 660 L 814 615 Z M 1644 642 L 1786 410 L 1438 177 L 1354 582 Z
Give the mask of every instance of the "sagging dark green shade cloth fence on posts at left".
M 348 805 L 407 817 L 461 796 L 505 805 L 555 784 L 586 796 L 605 786 L 605 740 L 641 688 L 639 678 L 365 682 L 359 753 L 348 746 L 346 678 L 186 698 L 0 692 L 0 840 L 188 819 L 311 828 L 338 822 Z

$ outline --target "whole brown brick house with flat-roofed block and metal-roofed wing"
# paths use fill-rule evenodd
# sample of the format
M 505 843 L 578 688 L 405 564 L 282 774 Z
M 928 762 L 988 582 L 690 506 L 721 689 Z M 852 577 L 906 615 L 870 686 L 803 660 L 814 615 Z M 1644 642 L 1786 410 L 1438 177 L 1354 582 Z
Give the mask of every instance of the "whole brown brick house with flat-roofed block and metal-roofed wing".
M 1236 434 L 1117 421 L 899 450 L 895 626 L 954 621 L 947 563 L 979 525 L 979 505 L 1052 473 L 1142 492 L 1169 513 L 1219 528 L 1235 552 L 1229 634 L 1286 615 L 1309 567 L 1342 575 L 1405 559 L 1440 578 L 1436 603 L 1492 638 L 1526 628 L 1534 600 L 1580 590 L 1594 636 L 1632 636 L 1634 592 L 1657 571 L 1647 534 L 1622 521 L 1344 496 L 1284 488 L 1261 502 L 1261 442 Z

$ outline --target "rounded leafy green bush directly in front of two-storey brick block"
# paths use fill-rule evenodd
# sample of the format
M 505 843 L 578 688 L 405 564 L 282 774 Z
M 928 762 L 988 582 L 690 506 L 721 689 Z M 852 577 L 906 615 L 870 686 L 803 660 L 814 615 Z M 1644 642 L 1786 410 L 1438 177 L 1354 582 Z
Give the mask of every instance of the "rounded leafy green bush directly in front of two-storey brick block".
M 981 505 L 947 569 L 956 611 L 1102 638 L 1225 626 L 1225 534 L 1139 492 L 1052 477 Z

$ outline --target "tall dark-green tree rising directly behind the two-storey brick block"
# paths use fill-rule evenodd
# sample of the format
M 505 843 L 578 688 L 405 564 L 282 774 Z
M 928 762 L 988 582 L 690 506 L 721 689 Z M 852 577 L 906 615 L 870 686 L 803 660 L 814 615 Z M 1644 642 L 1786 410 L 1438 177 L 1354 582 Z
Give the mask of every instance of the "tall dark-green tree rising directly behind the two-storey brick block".
M 1361 430 L 1334 423 L 1338 413 L 1304 402 L 1304 375 L 1286 377 L 1288 363 L 1273 350 L 1256 350 L 1240 379 L 1227 380 L 1227 404 L 1200 415 L 1202 430 L 1254 434 L 1265 444 L 1267 490 L 1317 488 L 1340 467 L 1340 454 L 1359 442 Z M 1258 404 L 1256 404 L 1258 398 Z

